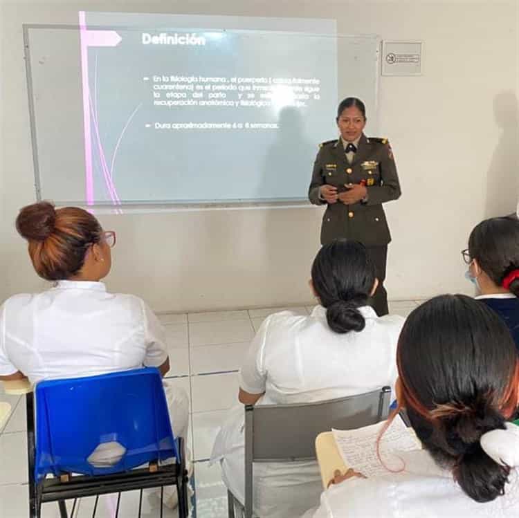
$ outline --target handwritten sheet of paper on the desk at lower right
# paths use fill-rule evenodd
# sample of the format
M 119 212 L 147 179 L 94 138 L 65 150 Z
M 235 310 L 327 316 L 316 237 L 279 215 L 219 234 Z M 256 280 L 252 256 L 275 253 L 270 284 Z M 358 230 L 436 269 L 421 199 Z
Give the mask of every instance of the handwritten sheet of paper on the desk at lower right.
M 384 425 L 385 421 L 354 430 L 332 430 L 345 465 L 366 477 L 388 474 L 388 469 L 401 470 L 405 467 L 398 452 L 420 450 L 420 442 L 412 429 L 406 427 L 401 417 L 397 416 L 381 438 L 381 463 L 376 454 L 376 439 Z

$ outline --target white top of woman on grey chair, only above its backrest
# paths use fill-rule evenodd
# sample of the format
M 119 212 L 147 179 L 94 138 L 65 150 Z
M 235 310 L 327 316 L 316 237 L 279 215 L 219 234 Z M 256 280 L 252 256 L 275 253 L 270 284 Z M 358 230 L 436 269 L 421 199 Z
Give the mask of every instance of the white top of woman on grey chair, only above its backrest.
M 383 385 L 394 395 L 404 319 L 378 317 L 370 306 L 359 311 L 363 331 L 343 334 L 331 331 L 322 306 L 310 316 L 283 311 L 267 317 L 246 353 L 239 386 L 265 392 L 264 405 L 342 398 Z

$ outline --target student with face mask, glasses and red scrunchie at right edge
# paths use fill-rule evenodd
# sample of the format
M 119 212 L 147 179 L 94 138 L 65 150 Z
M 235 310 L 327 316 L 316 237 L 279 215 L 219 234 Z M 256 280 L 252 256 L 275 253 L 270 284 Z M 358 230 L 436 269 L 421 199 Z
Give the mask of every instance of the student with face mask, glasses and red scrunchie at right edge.
M 466 275 L 480 293 L 476 298 L 500 315 L 519 349 L 519 220 L 482 221 L 462 254 L 469 265 Z

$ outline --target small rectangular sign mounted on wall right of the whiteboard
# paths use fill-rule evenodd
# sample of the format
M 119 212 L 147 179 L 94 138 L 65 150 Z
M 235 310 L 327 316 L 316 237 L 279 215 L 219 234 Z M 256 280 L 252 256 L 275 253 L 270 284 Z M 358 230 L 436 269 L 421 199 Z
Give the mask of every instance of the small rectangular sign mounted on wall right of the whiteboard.
M 421 75 L 422 41 L 383 41 L 382 75 Z

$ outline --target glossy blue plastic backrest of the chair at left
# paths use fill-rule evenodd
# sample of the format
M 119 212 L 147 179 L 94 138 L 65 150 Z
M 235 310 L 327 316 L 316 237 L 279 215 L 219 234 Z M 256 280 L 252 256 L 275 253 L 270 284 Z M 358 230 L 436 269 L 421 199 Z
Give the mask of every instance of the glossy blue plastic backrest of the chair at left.
M 35 400 L 36 481 L 48 473 L 111 474 L 179 459 L 158 369 L 42 381 Z M 91 464 L 106 443 L 120 445 L 120 459 Z

